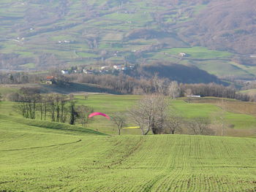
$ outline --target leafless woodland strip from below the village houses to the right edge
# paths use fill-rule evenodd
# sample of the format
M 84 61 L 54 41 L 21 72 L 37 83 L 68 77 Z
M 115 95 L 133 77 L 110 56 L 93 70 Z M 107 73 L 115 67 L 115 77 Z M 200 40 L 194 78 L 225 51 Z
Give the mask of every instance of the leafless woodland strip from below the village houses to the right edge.
M 126 74 L 119 74 L 118 76 L 113 76 L 110 74 L 78 74 L 72 76 L 72 80 L 77 80 L 78 82 L 97 84 L 104 88 L 113 89 L 114 91 L 132 94 L 155 93 L 155 78 L 157 78 L 158 83 L 161 84 L 161 88 L 163 90 L 162 93 L 172 98 L 188 95 L 200 95 L 238 99 L 241 101 L 250 100 L 250 96 L 248 94 L 238 93 L 236 88 L 233 86 L 227 87 L 224 85 L 216 84 L 214 82 L 208 84 L 185 84 L 167 79 L 159 79 L 157 75 L 152 77 L 150 80 L 143 77 L 140 77 L 140 80 L 138 80 L 135 77 L 129 77 Z

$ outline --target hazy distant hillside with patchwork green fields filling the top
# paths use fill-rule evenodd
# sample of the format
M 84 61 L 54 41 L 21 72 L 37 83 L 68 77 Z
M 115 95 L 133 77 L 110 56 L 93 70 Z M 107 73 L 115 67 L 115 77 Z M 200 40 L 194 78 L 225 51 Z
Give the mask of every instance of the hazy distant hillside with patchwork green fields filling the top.
M 218 77 L 255 78 L 252 3 L 1 1 L 0 69 L 165 61 Z

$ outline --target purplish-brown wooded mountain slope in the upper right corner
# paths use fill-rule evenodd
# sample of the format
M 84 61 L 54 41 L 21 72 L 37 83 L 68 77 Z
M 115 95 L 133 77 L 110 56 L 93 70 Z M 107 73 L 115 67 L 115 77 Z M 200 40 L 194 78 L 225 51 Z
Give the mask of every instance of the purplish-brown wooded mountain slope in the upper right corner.
M 255 9 L 254 0 L 210 1 L 185 25 L 183 34 L 192 45 L 200 43 L 213 49 L 256 54 Z

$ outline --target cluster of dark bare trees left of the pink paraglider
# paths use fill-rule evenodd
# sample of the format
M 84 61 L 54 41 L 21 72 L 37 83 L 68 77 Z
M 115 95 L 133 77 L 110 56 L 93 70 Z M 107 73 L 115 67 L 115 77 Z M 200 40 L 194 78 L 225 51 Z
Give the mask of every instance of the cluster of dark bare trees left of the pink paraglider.
M 53 122 L 74 125 L 76 122 L 86 126 L 89 113 L 93 109 L 88 106 L 76 106 L 72 95 L 42 94 L 37 88 L 20 88 L 19 93 L 12 96 L 12 101 L 17 101 L 17 110 L 24 118 L 40 118 Z

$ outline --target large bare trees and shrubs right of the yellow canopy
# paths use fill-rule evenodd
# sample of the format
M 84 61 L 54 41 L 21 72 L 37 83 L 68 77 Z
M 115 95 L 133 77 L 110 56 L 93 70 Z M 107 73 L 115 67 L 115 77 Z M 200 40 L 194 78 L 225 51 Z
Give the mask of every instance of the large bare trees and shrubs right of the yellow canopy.
M 168 89 L 165 90 L 164 82 L 159 78 L 153 79 L 154 93 L 147 94 L 129 110 L 129 116 L 140 127 L 141 134 L 146 135 L 149 131 L 153 134 L 175 134 L 186 129 L 187 134 L 217 134 L 212 125 L 216 127 L 225 126 L 224 114 L 216 114 L 213 117 L 199 117 L 185 119 L 178 114 L 177 109 L 172 105 L 172 99 L 180 93 L 180 87 L 177 82 L 171 82 Z M 170 96 L 165 96 L 168 91 Z M 211 123 L 214 121 L 214 123 Z

